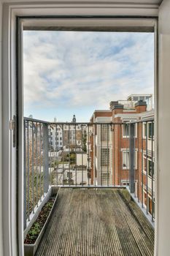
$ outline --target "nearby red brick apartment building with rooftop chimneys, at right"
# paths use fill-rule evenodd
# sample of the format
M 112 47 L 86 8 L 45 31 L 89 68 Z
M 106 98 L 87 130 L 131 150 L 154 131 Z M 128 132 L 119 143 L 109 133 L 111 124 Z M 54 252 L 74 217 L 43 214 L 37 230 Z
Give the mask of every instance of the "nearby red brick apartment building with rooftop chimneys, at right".
M 141 98 L 140 98 L 141 97 Z M 134 124 L 134 195 L 152 214 L 155 201 L 152 95 L 131 95 L 95 110 L 90 118 L 91 184 L 129 186 L 131 175 L 130 122 Z M 96 124 L 95 124 L 96 123 Z

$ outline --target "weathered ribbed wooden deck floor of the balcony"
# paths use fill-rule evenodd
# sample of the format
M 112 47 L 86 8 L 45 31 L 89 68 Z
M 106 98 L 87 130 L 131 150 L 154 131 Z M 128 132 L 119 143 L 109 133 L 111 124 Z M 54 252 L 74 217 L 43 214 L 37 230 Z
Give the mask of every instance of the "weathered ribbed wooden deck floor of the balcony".
M 115 189 L 61 189 L 36 256 L 153 255 L 150 223 L 121 195 Z

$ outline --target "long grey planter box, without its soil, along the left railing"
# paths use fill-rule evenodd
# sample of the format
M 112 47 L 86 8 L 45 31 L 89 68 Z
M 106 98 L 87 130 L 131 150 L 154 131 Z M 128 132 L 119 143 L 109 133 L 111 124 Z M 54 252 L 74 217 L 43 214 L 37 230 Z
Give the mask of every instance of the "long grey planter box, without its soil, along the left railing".
M 53 203 L 53 207 L 51 208 L 50 214 L 47 217 L 47 220 L 45 222 L 44 227 L 42 227 L 42 230 L 39 233 L 39 236 L 36 238 L 35 244 L 24 244 L 24 256 L 34 256 L 35 255 L 36 249 L 38 248 L 39 243 L 42 240 L 42 236 L 45 233 L 45 229 L 47 227 L 47 224 L 48 224 L 48 222 L 49 222 L 49 220 L 50 220 L 50 218 L 53 214 L 53 210 L 54 210 L 55 204 L 57 202 L 59 191 L 60 191 L 60 188 L 58 189 L 56 187 L 51 187 L 50 192 L 49 192 L 49 198 L 53 195 L 56 195 L 55 201 Z M 45 200 L 45 203 L 47 203 L 47 200 Z M 45 203 L 44 203 L 44 205 L 45 205 Z M 36 219 L 34 221 L 36 221 Z

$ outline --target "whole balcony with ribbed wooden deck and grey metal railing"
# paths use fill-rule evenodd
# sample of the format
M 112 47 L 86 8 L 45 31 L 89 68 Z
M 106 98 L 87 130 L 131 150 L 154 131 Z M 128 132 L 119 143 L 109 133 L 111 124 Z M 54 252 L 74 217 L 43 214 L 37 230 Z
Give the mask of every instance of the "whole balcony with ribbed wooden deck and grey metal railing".
M 153 255 L 153 143 L 152 120 L 25 118 L 25 236 L 51 188 L 61 188 L 36 255 Z

